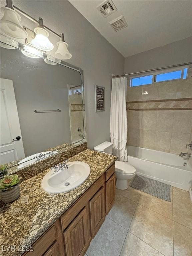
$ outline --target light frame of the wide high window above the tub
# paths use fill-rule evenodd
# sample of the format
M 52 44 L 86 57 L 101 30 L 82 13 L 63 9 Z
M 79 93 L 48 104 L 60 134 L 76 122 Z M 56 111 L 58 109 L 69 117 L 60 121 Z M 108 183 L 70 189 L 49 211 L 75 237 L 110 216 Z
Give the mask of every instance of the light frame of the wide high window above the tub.
M 187 76 L 186 78 L 183 78 L 183 75 L 184 75 L 184 69 L 187 68 Z M 156 84 L 156 83 L 165 83 L 165 82 L 170 82 L 170 81 L 177 81 L 177 80 L 185 80 L 188 78 L 188 73 L 189 73 L 189 68 L 190 66 L 189 65 L 186 65 L 186 66 L 181 66 L 181 67 L 177 67 L 177 68 L 167 68 L 167 69 L 162 69 L 162 70 L 159 70 L 159 71 L 156 71 L 156 72 L 145 72 L 143 73 L 144 75 L 142 75 L 142 73 L 140 75 L 136 75 L 136 76 L 131 76 L 129 77 L 130 79 L 130 87 L 138 87 L 138 86 L 148 86 L 148 85 L 152 85 L 152 84 Z M 174 72 L 174 71 L 180 71 L 181 70 L 181 78 L 177 78 L 177 79 L 170 79 L 170 80 L 164 80 L 164 81 L 156 81 L 156 77 L 157 75 L 159 74 L 166 74 L 166 73 L 170 73 L 170 72 Z M 136 85 L 136 86 L 132 86 L 132 79 L 133 78 L 138 78 L 138 77 L 144 77 L 144 76 L 150 76 L 152 75 L 152 83 L 151 84 L 143 84 L 143 85 Z

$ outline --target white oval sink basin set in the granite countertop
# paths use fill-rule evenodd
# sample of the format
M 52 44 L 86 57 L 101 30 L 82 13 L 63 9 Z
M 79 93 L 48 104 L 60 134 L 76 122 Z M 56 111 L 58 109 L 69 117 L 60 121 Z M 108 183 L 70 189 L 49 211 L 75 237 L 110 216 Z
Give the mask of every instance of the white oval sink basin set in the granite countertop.
M 81 185 L 90 174 L 90 167 L 84 162 L 69 162 L 68 169 L 58 172 L 52 168 L 42 179 L 43 190 L 50 194 L 67 192 Z

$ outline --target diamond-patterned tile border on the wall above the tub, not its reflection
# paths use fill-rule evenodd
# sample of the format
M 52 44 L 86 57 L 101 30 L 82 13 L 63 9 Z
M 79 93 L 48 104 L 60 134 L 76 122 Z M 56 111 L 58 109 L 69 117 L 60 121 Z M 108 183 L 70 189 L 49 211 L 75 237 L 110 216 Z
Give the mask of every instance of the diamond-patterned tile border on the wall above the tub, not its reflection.
M 192 98 L 126 102 L 127 110 L 192 110 Z

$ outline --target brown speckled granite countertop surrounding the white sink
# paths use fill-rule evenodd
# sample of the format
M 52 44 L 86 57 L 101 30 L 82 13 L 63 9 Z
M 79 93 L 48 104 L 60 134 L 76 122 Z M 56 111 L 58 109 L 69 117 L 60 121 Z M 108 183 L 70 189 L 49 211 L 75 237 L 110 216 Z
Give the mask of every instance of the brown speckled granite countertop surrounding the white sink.
M 84 150 L 69 161 L 87 163 L 91 172 L 79 187 L 61 194 L 48 194 L 41 188 L 45 170 L 20 184 L 20 197 L 1 208 L 1 247 L 4 256 L 21 255 L 18 246 L 32 245 L 117 158 L 93 150 Z M 6 246 L 15 246 L 7 251 Z M 2 251 L 2 246 L 4 250 Z

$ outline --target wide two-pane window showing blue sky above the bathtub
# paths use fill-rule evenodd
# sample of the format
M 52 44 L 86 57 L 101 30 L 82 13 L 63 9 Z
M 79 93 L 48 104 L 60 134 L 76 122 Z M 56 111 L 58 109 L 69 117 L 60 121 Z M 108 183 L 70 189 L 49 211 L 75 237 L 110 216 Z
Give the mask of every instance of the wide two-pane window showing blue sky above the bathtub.
M 188 74 L 188 68 L 180 68 L 176 70 L 169 69 L 169 72 L 154 72 L 151 75 L 140 76 L 140 77 L 131 77 L 130 78 L 130 86 L 140 86 L 140 85 L 148 85 L 158 82 L 177 80 L 177 79 L 186 79 Z

